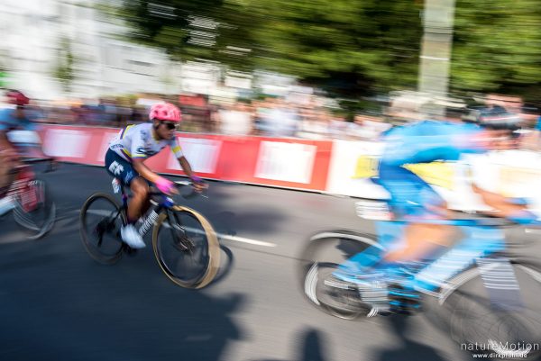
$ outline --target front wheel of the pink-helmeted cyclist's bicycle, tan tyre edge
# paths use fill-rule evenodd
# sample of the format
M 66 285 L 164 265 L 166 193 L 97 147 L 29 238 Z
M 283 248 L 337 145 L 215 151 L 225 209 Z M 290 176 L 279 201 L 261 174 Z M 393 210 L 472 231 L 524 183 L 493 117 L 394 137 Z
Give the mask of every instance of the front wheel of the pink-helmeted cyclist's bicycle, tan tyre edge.
M 177 205 L 160 214 L 152 248 L 163 273 L 181 287 L 205 287 L 220 266 L 215 231 L 205 217 L 187 207 Z

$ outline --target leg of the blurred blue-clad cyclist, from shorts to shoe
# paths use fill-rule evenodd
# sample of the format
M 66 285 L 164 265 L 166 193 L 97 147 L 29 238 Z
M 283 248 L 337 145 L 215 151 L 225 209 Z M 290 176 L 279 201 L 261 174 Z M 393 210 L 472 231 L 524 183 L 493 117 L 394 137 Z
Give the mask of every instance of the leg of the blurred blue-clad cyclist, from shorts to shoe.
M 445 219 L 444 200 L 414 173 L 382 165 L 379 183 L 390 192 L 390 208 L 399 222 L 379 222 L 378 239 L 387 250 L 371 247 L 349 258 L 336 273 L 343 280 L 357 279 L 362 274 L 370 278 L 371 274 L 394 273 L 397 262 L 432 255 L 442 245 L 448 245 L 453 234 L 453 226 L 434 224 Z

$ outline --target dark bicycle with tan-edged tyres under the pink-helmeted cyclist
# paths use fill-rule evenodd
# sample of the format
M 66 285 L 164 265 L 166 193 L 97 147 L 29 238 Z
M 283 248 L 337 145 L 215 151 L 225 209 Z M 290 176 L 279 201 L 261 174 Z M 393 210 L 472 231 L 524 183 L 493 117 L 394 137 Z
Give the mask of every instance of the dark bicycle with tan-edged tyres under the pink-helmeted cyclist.
M 193 186 L 177 183 L 176 187 Z M 80 234 L 90 257 L 105 265 L 115 264 L 124 253 L 136 249 L 122 241 L 121 229 L 127 223 L 128 194 L 118 179 L 115 193 L 122 194 L 122 204 L 110 194 L 92 194 L 80 213 Z M 184 198 L 197 195 L 181 194 Z M 152 229 L 152 248 L 161 270 L 171 281 L 186 288 L 210 284 L 220 266 L 220 245 L 211 224 L 195 210 L 176 204 L 169 196 L 151 187 L 151 208 L 140 219 L 138 232 L 143 237 Z

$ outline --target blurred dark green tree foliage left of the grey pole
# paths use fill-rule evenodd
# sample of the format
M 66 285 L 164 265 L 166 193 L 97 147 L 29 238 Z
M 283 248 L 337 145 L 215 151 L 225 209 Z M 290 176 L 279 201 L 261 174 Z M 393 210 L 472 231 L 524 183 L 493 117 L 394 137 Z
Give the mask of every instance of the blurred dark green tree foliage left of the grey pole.
M 409 0 L 170 0 L 125 1 L 117 14 L 134 41 L 174 59 L 279 71 L 354 96 L 416 86 L 420 10 Z

